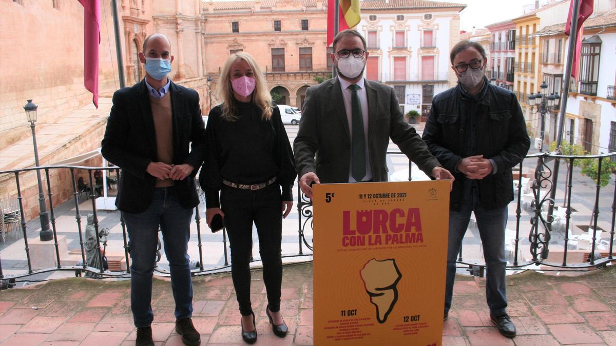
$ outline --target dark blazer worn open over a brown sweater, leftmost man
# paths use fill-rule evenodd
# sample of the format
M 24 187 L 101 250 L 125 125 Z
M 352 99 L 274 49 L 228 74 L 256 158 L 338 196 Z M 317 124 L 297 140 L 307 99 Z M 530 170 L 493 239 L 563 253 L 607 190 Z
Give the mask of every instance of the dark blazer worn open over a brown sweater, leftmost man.
M 176 180 L 174 186 L 182 207 L 192 208 L 199 204 L 195 175 L 205 156 L 205 126 L 201 118 L 199 94 L 174 82 L 169 86 L 169 93 L 173 163 L 187 163 L 195 167 L 190 177 Z M 156 183 L 156 178 L 145 169 L 150 162 L 158 161 L 154 120 L 145 79 L 113 94 L 113 107 L 101 145 L 105 159 L 121 168 L 116 206 L 121 211 L 134 214 L 145 211 L 152 203 Z

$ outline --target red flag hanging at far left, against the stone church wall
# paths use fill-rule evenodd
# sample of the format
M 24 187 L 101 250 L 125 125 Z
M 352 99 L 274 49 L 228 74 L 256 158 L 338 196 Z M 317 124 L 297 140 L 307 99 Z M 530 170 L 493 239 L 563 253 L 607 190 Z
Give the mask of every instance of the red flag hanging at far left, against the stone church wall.
M 100 0 L 79 0 L 84 9 L 83 84 L 92 93 L 92 102 L 99 108 L 99 44 Z

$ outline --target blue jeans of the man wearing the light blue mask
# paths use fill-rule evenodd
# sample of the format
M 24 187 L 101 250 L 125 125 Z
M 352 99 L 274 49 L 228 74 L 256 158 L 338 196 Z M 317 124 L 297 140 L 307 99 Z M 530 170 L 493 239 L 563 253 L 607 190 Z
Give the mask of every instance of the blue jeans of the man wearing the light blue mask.
M 159 226 L 169 260 L 176 318 L 192 316 L 192 279 L 187 252 L 192 213 L 192 208 L 180 206 L 174 187 L 156 188 L 152 204 L 144 212 L 123 213 L 130 239 L 131 310 L 137 328 L 150 326 L 154 320 L 150 303 Z

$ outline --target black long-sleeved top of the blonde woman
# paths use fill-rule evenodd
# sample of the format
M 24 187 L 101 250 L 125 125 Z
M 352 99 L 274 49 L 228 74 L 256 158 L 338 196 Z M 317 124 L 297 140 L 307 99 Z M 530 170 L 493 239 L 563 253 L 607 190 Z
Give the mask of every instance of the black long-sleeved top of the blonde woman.
M 277 177 L 282 200 L 293 201 L 291 189 L 297 173 L 280 110 L 274 107 L 272 118 L 265 121 L 253 102 L 237 102 L 236 107 L 235 121 L 222 118 L 221 106 L 209 112 L 206 159 L 199 175 L 206 207 L 220 206 L 222 179 L 250 185 Z

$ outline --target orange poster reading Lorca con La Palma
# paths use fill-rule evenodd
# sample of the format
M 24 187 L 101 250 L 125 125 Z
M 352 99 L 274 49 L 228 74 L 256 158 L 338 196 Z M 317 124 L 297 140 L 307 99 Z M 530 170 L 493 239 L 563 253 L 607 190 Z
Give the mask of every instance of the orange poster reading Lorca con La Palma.
M 314 344 L 441 345 L 449 182 L 314 185 Z

